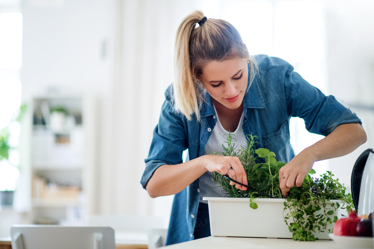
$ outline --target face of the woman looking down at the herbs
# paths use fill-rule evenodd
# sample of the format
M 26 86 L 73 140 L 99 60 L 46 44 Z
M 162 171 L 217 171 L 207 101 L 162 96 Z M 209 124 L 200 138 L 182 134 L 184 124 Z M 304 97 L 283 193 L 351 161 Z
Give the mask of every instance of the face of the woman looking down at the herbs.
M 199 80 L 213 99 L 227 108 L 239 108 L 247 89 L 247 61 L 231 59 L 209 62 L 202 68 Z

